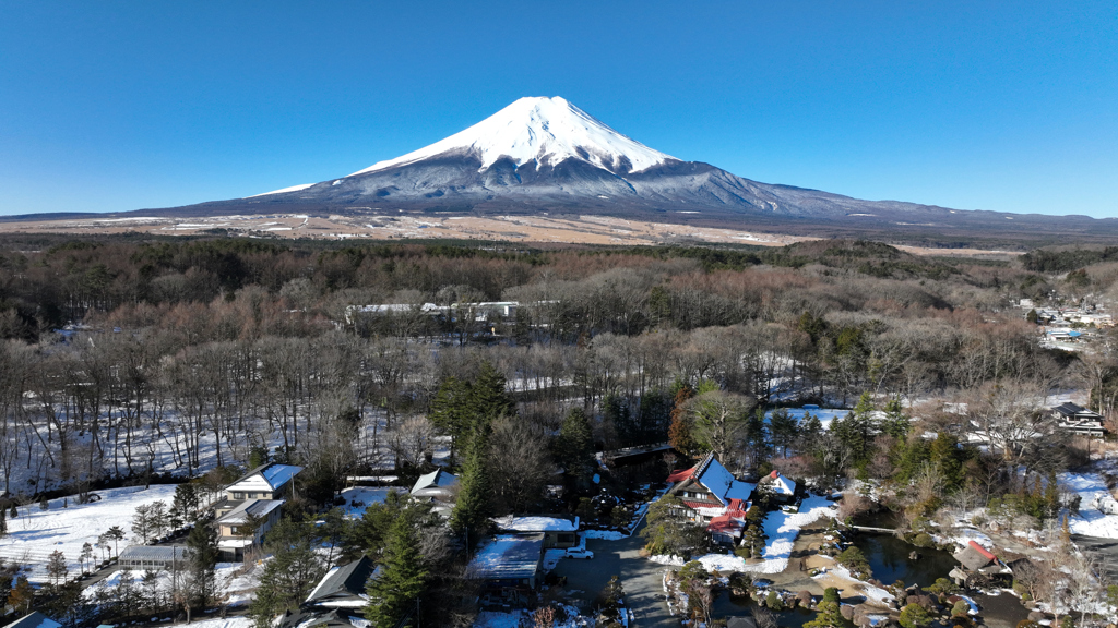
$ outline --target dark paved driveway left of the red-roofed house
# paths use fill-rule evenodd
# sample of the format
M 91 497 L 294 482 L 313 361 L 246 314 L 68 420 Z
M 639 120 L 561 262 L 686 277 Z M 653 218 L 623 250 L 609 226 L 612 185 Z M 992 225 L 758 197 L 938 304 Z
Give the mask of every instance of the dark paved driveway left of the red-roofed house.
M 636 613 L 637 627 L 680 628 L 664 602 L 663 574 L 667 568 L 641 558 L 644 540 L 637 534 L 620 541 L 590 539 L 586 548 L 594 552 L 594 560 L 565 559 L 552 573 L 566 575 L 567 590 L 588 603 L 594 602 L 612 577 L 618 575 L 625 588 L 625 601 Z

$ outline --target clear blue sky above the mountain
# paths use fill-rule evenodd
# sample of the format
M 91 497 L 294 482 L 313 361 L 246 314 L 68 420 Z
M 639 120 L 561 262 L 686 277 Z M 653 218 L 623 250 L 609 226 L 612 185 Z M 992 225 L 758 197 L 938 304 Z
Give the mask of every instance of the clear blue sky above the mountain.
M 321 181 L 555 95 L 758 181 L 1118 216 L 1114 0 L 7 0 L 0 213 Z

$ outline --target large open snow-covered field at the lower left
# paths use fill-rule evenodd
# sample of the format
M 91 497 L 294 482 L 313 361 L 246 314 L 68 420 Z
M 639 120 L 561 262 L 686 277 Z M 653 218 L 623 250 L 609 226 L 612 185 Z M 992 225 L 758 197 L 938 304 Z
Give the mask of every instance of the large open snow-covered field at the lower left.
M 139 540 L 133 540 L 131 530 L 136 506 L 162 499 L 170 507 L 176 486 L 162 484 L 148 489 L 132 486 L 96 491 L 101 501 L 77 504 L 70 496 L 65 499 L 65 508 L 63 498 L 51 499 L 46 511 L 38 504 L 21 506 L 18 508 L 19 517 L 8 520 L 8 534 L 0 539 L 0 556 L 30 565 L 28 579 L 31 582 L 46 582 L 47 559 L 58 550 L 66 555 L 70 573 L 76 574 L 80 570 L 82 545 L 95 545 L 97 536 L 114 525 L 126 534 L 119 543 L 120 550 L 140 544 Z M 95 555 L 98 560 L 103 558 L 100 550 L 95 550 Z

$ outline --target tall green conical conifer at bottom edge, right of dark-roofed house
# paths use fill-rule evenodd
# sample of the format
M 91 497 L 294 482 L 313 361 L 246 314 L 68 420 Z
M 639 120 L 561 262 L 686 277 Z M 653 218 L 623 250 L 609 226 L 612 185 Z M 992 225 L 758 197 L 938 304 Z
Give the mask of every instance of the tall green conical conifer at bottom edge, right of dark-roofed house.
M 427 569 L 414 517 L 400 516 L 388 532 L 380 578 L 369 580 L 364 617 L 373 628 L 394 628 L 424 591 Z

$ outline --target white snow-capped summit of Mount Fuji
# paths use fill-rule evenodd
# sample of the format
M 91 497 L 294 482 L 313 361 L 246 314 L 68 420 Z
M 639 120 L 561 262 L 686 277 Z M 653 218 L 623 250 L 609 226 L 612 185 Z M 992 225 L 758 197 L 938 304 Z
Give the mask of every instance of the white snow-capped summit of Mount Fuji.
M 481 161 L 479 172 L 502 158 L 508 158 L 518 168 L 534 162 L 537 170 L 572 159 L 613 174 L 641 172 L 679 161 L 622 135 L 562 97 L 527 97 L 465 131 L 406 155 L 375 163 L 350 177 L 442 155 L 477 158 Z

